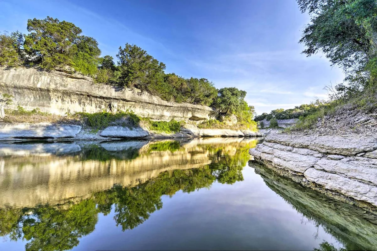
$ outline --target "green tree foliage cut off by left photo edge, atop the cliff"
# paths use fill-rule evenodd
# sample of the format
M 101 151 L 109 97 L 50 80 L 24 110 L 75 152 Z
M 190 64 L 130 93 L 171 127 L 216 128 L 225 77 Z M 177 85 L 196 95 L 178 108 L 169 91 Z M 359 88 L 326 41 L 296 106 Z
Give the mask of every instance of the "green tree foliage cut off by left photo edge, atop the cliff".
M 0 66 L 16 67 L 22 63 L 19 35 L 18 32 L 0 34 Z

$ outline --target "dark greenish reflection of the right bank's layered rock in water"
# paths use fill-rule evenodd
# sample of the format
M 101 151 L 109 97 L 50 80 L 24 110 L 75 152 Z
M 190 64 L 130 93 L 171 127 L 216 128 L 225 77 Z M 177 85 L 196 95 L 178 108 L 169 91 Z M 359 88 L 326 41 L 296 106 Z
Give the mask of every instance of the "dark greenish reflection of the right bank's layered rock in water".
M 332 200 L 312 189 L 284 178 L 256 161 L 249 166 L 263 178 L 265 184 L 303 216 L 321 225 L 325 231 L 341 242 L 345 248 L 336 249 L 324 241 L 315 249 L 375 250 L 377 247 L 377 215 L 362 208 Z

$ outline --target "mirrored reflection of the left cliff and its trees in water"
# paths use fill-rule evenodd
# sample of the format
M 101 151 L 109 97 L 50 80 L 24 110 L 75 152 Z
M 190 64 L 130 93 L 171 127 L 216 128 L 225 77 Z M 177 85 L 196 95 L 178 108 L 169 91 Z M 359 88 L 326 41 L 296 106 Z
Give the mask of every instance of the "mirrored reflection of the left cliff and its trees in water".
M 116 225 L 135 228 L 162 207 L 162 195 L 243 180 L 248 149 L 256 143 L 208 138 L 2 145 L 0 236 L 27 240 L 27 250 L 71 249 L 94 230 L 98 213 L 112 208 Z

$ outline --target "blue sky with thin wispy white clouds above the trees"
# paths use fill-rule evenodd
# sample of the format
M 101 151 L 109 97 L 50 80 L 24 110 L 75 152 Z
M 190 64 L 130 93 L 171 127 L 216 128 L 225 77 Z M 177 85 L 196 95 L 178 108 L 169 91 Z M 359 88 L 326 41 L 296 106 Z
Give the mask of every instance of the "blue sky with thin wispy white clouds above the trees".
M 308 23 L 294 0 L 0 0 L 0 31 L 26 31 L 29 18 L 74 23 L 103 55 L 136 44 L 166 72 L 247 91 L 257 114 L 326 98 L 343 73 L 323 55 L 300 54 Z

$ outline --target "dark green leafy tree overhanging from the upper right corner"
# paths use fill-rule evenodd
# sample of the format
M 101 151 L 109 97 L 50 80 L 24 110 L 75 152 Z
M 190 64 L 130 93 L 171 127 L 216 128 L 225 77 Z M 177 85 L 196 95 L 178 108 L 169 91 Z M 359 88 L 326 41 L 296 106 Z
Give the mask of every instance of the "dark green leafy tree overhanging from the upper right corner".
M 346 71 L 346 80 L 365 85 L 377 72 L 377 3 L 375 0 L 297 0 L 311 15 L 300 43 L 307 56 L 318 51 Z

